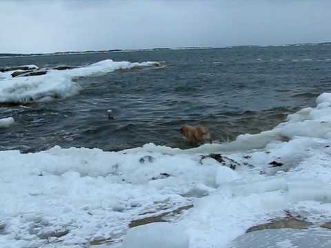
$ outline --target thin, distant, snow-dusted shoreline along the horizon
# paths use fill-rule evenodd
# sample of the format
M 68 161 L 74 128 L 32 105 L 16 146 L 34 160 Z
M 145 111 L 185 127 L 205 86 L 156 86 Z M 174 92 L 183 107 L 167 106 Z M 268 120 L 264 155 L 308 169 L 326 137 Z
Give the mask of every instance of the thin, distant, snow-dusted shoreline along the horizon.
M 163 50 L 201 50 L 201 49 L 224 49 L 224 48 L 269 48 L 269 47 L 287 47 L 301 45 L 331 45 L 331 42 L 323 43 L 296 43 L 284 45 L 232 45 L 225 47 L 182 47 L 182 48 L 146 48 L 146 49 L 114 49 L 114 50 L 88 50 L 88 51 L 68 51 L 68 52 L 50 52 L 50 53 L 0 53 L 0 59 L 23 57 L 23 56 L 57 56 L 57 55 L 72 55 L 72 54 L 96 54 L 96 53 L 111 53 L 111 52 L 148 52 L 148 51 L 163 51 Z

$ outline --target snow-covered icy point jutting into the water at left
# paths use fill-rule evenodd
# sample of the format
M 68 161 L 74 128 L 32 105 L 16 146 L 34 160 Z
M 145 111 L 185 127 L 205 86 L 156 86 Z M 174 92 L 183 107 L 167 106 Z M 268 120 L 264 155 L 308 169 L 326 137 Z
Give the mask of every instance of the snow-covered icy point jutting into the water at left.
M 49 70 L 46 75 L 12 78 L 8 72 L 0 72 L 0 103 L 29 103 L 45 98 L 66 98 L 78 94 L 81 87 L 72 81 L 74 77 L 159 65 L 157 62 L 130 63 L 111 59 L 72 70 Z

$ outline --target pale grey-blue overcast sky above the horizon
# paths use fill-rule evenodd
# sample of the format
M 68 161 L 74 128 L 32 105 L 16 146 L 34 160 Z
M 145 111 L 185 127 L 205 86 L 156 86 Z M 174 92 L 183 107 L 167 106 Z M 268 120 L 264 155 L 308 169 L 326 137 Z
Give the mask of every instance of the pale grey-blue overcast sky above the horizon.
M 331 41 L 331 0 L 0 0 L 0 53 Z

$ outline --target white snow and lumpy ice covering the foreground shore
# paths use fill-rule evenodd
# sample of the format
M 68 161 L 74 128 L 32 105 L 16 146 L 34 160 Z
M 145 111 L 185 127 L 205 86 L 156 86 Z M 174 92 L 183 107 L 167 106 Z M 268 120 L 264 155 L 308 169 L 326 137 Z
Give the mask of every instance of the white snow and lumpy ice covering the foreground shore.
M 123 248 L 225 248 L 285 211 L 319 225 L 331 219 L 329 103 L 331 95 L 322 94 L 317 107 L 291 114 L 272 130 L 194 149 L 150 143 L 121 152 L 2 151 L 0 247 L 111 240 L 110 247 Z M 211 152 L 225 155 L 226 166 L 201 157 Z M 231 161 L 238 163 L 235 170 Z M 168 216 L 170 223 L 128 228 L 131 220 L 188 205 Z

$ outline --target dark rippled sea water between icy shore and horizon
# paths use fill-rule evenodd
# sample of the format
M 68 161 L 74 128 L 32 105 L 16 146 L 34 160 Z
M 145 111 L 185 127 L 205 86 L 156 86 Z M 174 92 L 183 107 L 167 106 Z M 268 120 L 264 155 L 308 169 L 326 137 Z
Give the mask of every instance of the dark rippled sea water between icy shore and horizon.
M 331 91 L 331 45 L 28 56 L 1 58 L 0 67 L 87 65 L 104 59 L 164 61 L 166 66 L 81 77 L 76 81 L 83 90 L 77 96 L 0 108 L 0 118 L 16 120 L 0 130 L 0 149 L 119 150 L 150 142 L 187 148 L 178 132 L 184 123 L 201 123 L 214 139 L 230 141 L 269 130 Z

